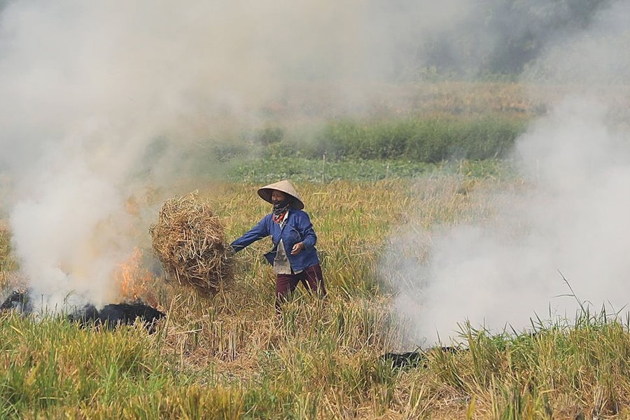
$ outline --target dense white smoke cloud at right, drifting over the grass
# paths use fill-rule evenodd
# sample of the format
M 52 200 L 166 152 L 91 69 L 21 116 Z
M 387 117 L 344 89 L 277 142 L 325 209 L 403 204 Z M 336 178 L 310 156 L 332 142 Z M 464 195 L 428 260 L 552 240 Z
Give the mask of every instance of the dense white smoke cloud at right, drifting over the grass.
M 492 332 L 571 321 L 578 300 L 611 315 L 627 310 L 630 133 L 610 87 L 630 81 L 619 53 L 630 45 L 628 11 L 627 2 L 603 10 L 579 36 L 549 45 L 524 74 L 567 92 L 517 141 L 526 188 L 479 191 L 472 200 L 491 221 L 392 238 L 395 307 L 411 321 L 412 342 L 458 340 L 467 321 Z M 428 258 L 401 258 L 410 246 L 428 249 Z

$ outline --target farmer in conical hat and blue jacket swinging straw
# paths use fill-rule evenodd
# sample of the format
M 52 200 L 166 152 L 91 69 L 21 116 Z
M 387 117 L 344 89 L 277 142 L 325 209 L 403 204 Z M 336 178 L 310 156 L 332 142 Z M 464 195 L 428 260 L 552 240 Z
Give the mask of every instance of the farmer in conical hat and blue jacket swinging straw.
M 273 204 L 271 214 L 239 239 L 232 242 L 235 252 L 271 235 L 274 247 L 265 254 L 276 273 L 276 310 L 293 293 L 297 283 L 325 296 L 315 242 L 317 237 L 304 203 L 289 181 L 279 181 L 258 189 L 258 195 Z

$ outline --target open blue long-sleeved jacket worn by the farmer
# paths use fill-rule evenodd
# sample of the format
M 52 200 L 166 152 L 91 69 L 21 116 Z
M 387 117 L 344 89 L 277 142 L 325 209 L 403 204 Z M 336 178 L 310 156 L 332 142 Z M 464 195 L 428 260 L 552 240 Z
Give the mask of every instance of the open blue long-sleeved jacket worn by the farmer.
M 290 209 L 284 228 L 281 228 L 281 225 L 274 222 L 273 214 L 267 214 L 258 222 L 258 225 L 255 225 L 239 239 L 232 242 L 232 248 L 238 252 L 253 244 L 253 242 L 268 236 L 272 237 L 274 251 L 280 239 L 282 239 L 284 251 L 294 272 L 300 272 L 307 267 L 319 264 L 315 248 L 317 235 L 315 235 L 311 219 L 306 211 Z M 304 244 L 304 249 L 297 255 L 291 255 L 293 245 L 298 242 Z

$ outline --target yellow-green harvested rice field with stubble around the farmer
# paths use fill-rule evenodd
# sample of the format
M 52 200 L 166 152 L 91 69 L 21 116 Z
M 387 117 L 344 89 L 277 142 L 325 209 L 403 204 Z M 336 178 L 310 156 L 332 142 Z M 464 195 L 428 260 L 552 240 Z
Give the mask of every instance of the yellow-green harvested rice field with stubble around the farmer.
M 269 210 L 259 183 L 208 184 L 236 238 Z M 630 416 L 627 322 L 584 311 L 571 323 L 491 335 L 462 320 L 463 351 L 428 353 L 395 367 L 382 356 L 413 351 L 396 293 L 381 272 L 388 236 L 491 217 L 477 190 L 521 181 L 462 173 L 419 179 L 297 183 L 318 233 L 328 298 L 298 288 L 274 311 L 269 242 L 237 254 L 235 278 L 214 295 L 155 277 L 167 313 L 158 332 L 80 329 L 62 318 L 0 314 L 3 419 L 586 419 Z M 395 203 L 395 206 L 392 204 Z M 421 211 L 420 211 L 421 209 Z M 156 216 L 157 217 L 157 216 Z M 15 262 L 0 226 L 0 280 Z M 147 232 L 148 235 L 148 232 Z M 149 248 L 141 250 L 151 253 Z M 409 250 L 424 258 L 426 250 Z M 300 286 L 301 287 L 301 286 Z M 8 289 L 7 289 L 8 288 Z

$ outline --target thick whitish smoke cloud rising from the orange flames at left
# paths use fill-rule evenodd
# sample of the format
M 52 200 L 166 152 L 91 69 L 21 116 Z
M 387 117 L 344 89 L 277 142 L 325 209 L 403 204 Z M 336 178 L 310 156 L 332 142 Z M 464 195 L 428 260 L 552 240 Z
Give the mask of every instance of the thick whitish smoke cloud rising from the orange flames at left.
M 211 171 L 193 158 L 265 111 L 308 114 L 291 98 L 316 99 L 309 83 L 335 93 L 330 110 L 360 110 L 414 23 L 458 4 L 432 3 L 2 1 L 1 210 L 36 301 L 111 300 L 147 235 L 130 203 Z

